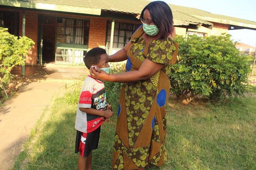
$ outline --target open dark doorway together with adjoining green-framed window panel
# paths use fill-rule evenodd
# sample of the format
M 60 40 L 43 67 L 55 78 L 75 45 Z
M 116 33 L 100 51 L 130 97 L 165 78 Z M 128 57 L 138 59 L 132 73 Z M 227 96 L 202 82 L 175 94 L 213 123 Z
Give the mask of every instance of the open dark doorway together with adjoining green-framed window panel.
M 53 16 L 40 16 L 38 19 L 40 64 L 83 63 L 88 50 L 89 20 Z

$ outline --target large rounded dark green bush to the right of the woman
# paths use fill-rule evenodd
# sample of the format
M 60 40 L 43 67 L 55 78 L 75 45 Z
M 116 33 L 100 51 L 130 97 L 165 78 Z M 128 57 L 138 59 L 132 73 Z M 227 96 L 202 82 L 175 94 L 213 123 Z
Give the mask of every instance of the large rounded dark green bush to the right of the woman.
M 231 35 L 188 39 L 177 36 L 178 64 L 171 68 L 171 89 L 182 102 L 197 96 L 219 99 L 246 93 L 251 72 L 246 55 L 239 55 Z

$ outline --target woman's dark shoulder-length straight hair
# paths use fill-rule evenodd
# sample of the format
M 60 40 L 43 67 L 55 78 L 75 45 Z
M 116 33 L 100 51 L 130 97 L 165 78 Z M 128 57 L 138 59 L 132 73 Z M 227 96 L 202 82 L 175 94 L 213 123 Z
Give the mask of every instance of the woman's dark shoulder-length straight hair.
M 141 12 L 140 17 L 143 18 L 144 11 L 149 10 L 152 21 L 159 29 L 160 39 L 172 35 L 174 31 L 172 10 L 163 1 L 150 2 Z

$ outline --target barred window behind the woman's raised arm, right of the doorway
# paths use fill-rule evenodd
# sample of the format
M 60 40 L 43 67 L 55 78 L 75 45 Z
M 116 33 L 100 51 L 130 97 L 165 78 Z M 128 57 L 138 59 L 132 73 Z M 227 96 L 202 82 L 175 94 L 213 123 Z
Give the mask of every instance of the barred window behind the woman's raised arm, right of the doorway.
M 112 25 L 112 22 L 109 21 L 107 25 L 107 41 L 106 41 L 108 54 L 110 49 L 111 25 Z M 132 34 L 137 30 L 139 26 L 140 25 L 138 24 L 125 24 L 125 23 L 115 22 L 113 53 L 118 51 L 119 49 L 122 49 L 130 41 Z

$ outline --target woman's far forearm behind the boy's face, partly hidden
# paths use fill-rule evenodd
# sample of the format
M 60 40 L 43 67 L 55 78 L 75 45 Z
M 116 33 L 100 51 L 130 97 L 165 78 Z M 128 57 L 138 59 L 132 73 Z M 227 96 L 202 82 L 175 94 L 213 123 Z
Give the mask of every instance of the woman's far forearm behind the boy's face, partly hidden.
M 127 59 L 127 52 L 129 50 L 129 48 L 131 47 L 132 42 L 131 40 L 119 51 L 117 51 L 116 53 L 108 56 L 108 62 L 119 62 L 119 61 L 124 61 Z

